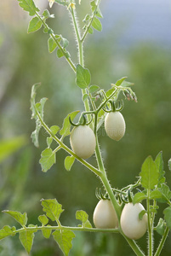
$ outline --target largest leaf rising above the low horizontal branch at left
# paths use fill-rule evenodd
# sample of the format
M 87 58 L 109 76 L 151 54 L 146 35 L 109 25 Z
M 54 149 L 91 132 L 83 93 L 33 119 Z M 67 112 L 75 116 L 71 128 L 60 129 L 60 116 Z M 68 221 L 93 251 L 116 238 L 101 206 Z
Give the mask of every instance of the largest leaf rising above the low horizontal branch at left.
M 64 210 L 62 209 L 62 205 L 58 203 L 56 199 L 42 199 L 43 212 L 46 212 L 48 218 L 52 221 L 59 220 L 60 213 Z

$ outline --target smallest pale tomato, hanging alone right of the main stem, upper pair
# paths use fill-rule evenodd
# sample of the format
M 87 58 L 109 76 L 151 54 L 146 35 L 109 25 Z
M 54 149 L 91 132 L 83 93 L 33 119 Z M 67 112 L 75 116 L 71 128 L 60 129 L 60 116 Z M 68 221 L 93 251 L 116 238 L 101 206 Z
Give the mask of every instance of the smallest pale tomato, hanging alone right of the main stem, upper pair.
M 107 113 L 105 116 L 105 132 L 108 137 L 119 141 L 125 134 L 125 120 L 119 111 Z

